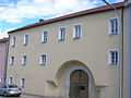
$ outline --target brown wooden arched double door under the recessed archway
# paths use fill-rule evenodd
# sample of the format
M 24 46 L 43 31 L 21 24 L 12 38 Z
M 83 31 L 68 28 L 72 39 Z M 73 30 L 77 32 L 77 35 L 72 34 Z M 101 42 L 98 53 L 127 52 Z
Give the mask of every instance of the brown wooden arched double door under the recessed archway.
M 70 76 L 70 98 L 88 98 L 88 76 L 82 70 L 74 71 Z

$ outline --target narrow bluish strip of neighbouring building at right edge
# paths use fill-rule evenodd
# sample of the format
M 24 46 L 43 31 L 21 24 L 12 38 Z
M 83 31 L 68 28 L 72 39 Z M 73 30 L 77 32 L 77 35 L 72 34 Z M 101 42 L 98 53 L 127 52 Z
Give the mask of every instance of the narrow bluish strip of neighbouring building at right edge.
M 128 95 L 127 98 L 131 98 L 131 0 L 126 0 L 126 3 L 124 3 L 124 7 L 128 9 L 127 10 L 127 33 L 126 33 L 126 36 L 124 36 L 124 53 L 126 53 L 126 60 L 127 60 L 127 71 L 124 72 L 126 75 L 124 75 L 124 79 L 126 79 L 126 86 L 127 87 L 127 90 L 126 90 L 126 94 Z M 124 86 L 123 86 L 124 87 Z

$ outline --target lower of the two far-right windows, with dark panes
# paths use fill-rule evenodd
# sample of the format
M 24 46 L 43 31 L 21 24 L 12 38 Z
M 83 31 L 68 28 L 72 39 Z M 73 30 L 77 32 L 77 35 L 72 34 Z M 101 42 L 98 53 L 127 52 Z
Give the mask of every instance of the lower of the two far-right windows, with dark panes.
M 118 49 L 111 49 L 108 51 L 108 63 L 109 65 L 118 65 L 119 63 L 119 51 Z

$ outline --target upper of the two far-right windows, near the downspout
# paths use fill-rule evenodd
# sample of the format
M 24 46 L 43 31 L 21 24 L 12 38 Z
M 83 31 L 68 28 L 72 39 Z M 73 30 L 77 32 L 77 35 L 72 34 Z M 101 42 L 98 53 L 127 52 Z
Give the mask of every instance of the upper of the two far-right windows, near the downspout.
M 109 35 L 118 34 L 118 17 L 109 19 Z

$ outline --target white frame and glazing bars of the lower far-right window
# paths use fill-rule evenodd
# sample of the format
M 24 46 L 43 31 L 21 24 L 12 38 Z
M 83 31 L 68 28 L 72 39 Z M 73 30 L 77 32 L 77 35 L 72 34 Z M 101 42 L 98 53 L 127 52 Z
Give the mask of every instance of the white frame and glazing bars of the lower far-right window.
M 111 52 L 116 52 L 117 51 L 117 59 L 118 59 L 118 61 L 116 62 L 116 63 L 112 63 L 112 57 L 111 57 Z M 116 58 L 116 56 L 115 56 L 115 58 Z M 116 61 L 116 59 L 115 59 L 115 61 Z M 109 49 L 108 50 L 108 64 L 110 65 L 110 66 L 112 66 L 112 65 L 119 65 L 119 49 Z

